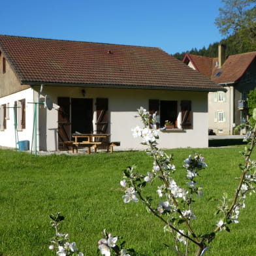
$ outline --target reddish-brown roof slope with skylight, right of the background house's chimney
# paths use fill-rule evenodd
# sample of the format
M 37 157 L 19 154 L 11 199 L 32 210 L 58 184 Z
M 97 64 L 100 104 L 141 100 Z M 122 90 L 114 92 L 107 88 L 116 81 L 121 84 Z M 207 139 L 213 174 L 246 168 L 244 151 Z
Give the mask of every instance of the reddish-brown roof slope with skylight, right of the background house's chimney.
M 211 79 L 217 84 L 238 82 L 255 57 L 256 52 L 231 55 L 220 69 L 216 65 L 213 66 Z M 216 61 L 217 58 L 214 58 L 215 63 Z

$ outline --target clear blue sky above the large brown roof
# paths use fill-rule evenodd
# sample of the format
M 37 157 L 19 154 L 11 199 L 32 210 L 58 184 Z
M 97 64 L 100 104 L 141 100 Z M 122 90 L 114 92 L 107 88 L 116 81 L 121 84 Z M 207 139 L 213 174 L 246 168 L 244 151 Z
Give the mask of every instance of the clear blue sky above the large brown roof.
M 158 47 L 168 54 L 221 40 L 221 0 L 5 0 L 0 34 Z

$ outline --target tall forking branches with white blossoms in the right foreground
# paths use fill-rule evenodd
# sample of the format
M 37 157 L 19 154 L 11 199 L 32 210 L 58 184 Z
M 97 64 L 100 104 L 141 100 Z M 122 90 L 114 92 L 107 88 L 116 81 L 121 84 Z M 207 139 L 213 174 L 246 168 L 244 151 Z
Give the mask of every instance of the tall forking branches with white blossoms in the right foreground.
M 246 148 L 244 152 L 245 164 L 242 169 L 242 175 L 240 176 L 240 182 L 236 189 L 234 199 L 231 206 L 227 205 L 227 195 L 223 195 L 223 204 L 219 206 L 218 212 L 223 213 L 223 219 L 217 223 L 217 227 L 214 231 L 206 233 L 204 235 L 197 235 L 191 228 L 191 220 L 196 216 L 192 212 L 192 203 L 195 201 L 194 196 L 202 195 L 202 187 L 196 182 L 196 177 L 200 170 L 207 167 L 204 163 L 204 157 L 194 153 L 189 155 L 184 161 L 184 168 L 187 172 L 188 190 L 179 187 L 171 174 L 176 170 L 172 163 L 172 155 L 167 155 L 163 150 L 157 148 L 156 140 L 159 138 L 155 114 L 150 114 L 142 107 L 138 109 L 138 116 L 142 119 L 143 127 L 135 127 L 133 129 L 133 136 L 141 137 L 142 144 L 148 146 L 146 152 L 153 157 L 152 172 L 148 172 L 145 176 L 143 174 L 137 174 L 135 172 L 135 166 L 127 168 L 123 171 L 123 180 L 120 182 L 121 186 L 125 188 L 125 195 L 123 195 L 123 201 L 138 202 L 141 200 L 154 216 L 160 219 L 164 224 L 164 231 L 169 231 L 174 236 L 175 248 L 170 246 L 168 248 L 176 251 L 178 255 L 184 255 L 180 252 L 178 242 L 182 242 L 186 245 L 185 256 L 189 253 L 189 242 L 197 245 L 197 251 L 195 256 L 202 256 L 208 250 L 208 244 L 216 237 L 216 232 L 223 229 L 229 231 L 227 227 L 230 223 L 238 223 L 238 215 L 240 208 L 245 207 L 245 198 L 248 191 L 254 191 L 253 183 L 256 182 L 256 171 L 253 173 L 256 163 L 250 160 L 251 152 L 255 147 L 256 127 L 250 133 L 250 147 Z M 256 110 L 255 110 L 256 120 Z M 142 189 L 147 184 L 153 184 L 154 180 L 160 180 L 161 184 L 157 187 L 157 193 L 160 198 L 165 198 L 164 201 L 159 200 L 159 204 L 155 206 L 153 199 L 150 196 L 142 195 Z M 186 209 L 185 207 L 188 207 Z M 187 231 L 180 229 L 183 225 Z

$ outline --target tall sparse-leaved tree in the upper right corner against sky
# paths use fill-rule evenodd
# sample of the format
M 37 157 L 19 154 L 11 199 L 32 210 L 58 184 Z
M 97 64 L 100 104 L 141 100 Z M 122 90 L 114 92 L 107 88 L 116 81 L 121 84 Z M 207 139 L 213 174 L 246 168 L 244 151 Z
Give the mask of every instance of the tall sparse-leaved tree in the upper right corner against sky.
M 222 0 L 215 24 L 224 36 L 233 36 L 234 42 L 243 50 L 256 48 L 256 0 Z

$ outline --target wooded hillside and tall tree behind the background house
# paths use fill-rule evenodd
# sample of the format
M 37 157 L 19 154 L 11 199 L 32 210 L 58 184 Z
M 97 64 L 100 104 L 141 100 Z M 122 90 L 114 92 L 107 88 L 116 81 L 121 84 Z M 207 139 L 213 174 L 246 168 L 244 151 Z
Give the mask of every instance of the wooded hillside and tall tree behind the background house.
M 206 57 L 217 57 L 218 45 L 225 44 L 226 55 L 254 52 L 256 50 L 256 0 L 222 0 L 219 16 L 215 24 L 223 36 L 220 42 L 209 44 L 197 50 L 192 48 L 187 52 L 173 54 L 177 59 L 185 54 L 195 54 Z

